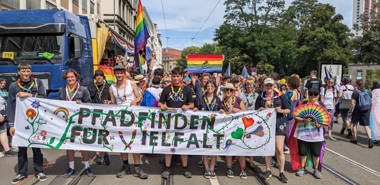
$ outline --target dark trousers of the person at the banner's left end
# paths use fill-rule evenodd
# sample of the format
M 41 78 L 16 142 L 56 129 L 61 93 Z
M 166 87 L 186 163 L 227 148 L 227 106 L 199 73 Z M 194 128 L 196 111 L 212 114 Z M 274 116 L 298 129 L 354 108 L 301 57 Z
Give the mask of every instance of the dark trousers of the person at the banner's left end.
M 28 176 L 28 147 L 19 146 L 18 162 L 19 162 L 19 174 Z M 33 151 L 33 165 L 36 175 L 43 172 L 43 155 L 40 148 L 32 147 Z

